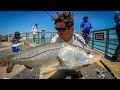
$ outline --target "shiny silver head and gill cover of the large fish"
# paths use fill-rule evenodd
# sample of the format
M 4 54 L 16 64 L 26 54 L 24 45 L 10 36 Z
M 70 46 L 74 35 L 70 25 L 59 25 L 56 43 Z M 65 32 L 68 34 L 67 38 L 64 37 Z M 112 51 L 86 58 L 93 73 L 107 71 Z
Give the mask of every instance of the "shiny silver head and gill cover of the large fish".
M 100 53 L 75 45 L 62 48 L 58 56 L 67 69 L 74 69 L 79 66 L 95 63 L 102 57 Z

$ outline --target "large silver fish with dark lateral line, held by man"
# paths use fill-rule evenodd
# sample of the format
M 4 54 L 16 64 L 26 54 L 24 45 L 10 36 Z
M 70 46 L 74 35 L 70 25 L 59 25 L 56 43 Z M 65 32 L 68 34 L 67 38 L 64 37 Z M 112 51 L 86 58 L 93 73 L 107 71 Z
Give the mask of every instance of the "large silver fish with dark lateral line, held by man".
M 91 64 L 100 60 L 102 54 L 95 51 L 80 48 L 78 46 L 67 43 L 46 44 L 36 46 L 28 50 L 20 52 L 13 57 L 7 68 L 10 73 L 15 64 L 26 66 L 26 68 L 34 68 L 41 66 L 55 66 L 57 69 L 73 69 L 78 66 Z M 91 62 L 91 60 L 94 60 Z

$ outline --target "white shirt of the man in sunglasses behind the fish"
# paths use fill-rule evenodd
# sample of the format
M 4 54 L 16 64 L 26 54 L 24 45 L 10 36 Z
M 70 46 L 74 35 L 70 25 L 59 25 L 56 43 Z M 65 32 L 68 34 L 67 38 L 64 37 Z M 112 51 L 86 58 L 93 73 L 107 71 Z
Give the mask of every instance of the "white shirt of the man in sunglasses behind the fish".
M 63 39 L 61 39 L 59 37 L 58 34 L 56 34 L 52 38 L 51 43 L 71 43 L 71 44 L 80 46 L 82 48 L 87 47 L 86 44 L 85 44 L 85 40 L 83 39 L 83 37 L 81 35 L 79 35 L 79 34 L 76 34 L 76 33 L 73 33 L 72 39 L 70 41 L 68 41 L 68 42 L 65 42 Z

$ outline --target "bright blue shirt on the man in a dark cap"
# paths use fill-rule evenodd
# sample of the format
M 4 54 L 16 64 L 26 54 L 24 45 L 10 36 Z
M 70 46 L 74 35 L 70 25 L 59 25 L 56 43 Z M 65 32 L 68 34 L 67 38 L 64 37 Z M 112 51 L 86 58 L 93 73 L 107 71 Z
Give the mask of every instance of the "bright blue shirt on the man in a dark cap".
M 90 33 L 91 23 L 90 22 L 82 22 L 80 25 L 80 28 L 82 28 L 83 33 Z

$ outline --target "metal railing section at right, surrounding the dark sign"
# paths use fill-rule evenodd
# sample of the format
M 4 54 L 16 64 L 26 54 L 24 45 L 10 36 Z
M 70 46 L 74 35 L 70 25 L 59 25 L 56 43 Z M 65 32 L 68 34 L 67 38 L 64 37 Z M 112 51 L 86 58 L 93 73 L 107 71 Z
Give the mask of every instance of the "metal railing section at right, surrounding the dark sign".
M 95 33 L 101 33 L 101 32 L 104 33 L 104 40 L 95 40 Z M 116 46 L 118 45 L 117 37 L 116 38 L 111 38 L 111 36 L 110 36 L 110 35 L 113 35 L 114 37 L 117 36 L 115 32 L 116 32 L 115 27 L 102 29 L 102 30 L 91 31 L 91 36 L 92 37 L 89 40 L 88 45 L 92 49 L 97 49 L 97 50 L 100 50 L 104 54 L 109 53 L 109 54 L 112 55 L 112 54 L 114 54 Z M 98 48 L 98 47 L 101 47 L 101 48 Z

